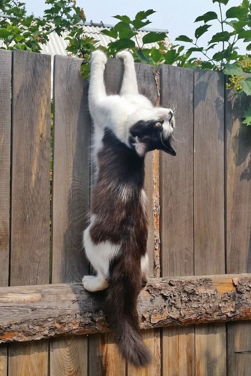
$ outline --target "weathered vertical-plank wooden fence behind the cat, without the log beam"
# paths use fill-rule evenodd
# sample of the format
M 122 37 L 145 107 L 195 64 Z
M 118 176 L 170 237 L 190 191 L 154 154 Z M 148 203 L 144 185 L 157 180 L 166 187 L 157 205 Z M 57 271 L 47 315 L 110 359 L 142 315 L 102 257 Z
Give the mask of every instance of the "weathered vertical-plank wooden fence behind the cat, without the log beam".
M 21 299 L 29 316 L 47 289 L 37 288 L 33 308 L 27 288 L 22 295 L 14 287 L 76 283 L 89 271 L 81 232 L 89 207 L 91 123 L 80 65 L 71 57 L 54 60 L 51 201 L 51 57 L 0 50 L 0 286 L 9 286 L 0 289 L 0 312 Z M 247 99 L 226 91 L 217 72 L 141 64 L 136 69 L 141 92 L 179 112 L 177 156 L 155 151 L 146 161 L 150 274 L 250 273 L 251 127 L 240 125 Z M 121 62 L 109 61 L 110 92 L 118 91 L 121 75 Z M 248 280 L 244 293 L 250 298 Z M 229 283 L 217 292 L 227 298 Z M 101 333 L 2 343 L 0 375 L 251 374 L 248 321 L 151 328 L 142 334 L 155 357 L 144 369 L 126 364 L 112 335 Z M 13 333 L 8 335 L 11 340 Z

